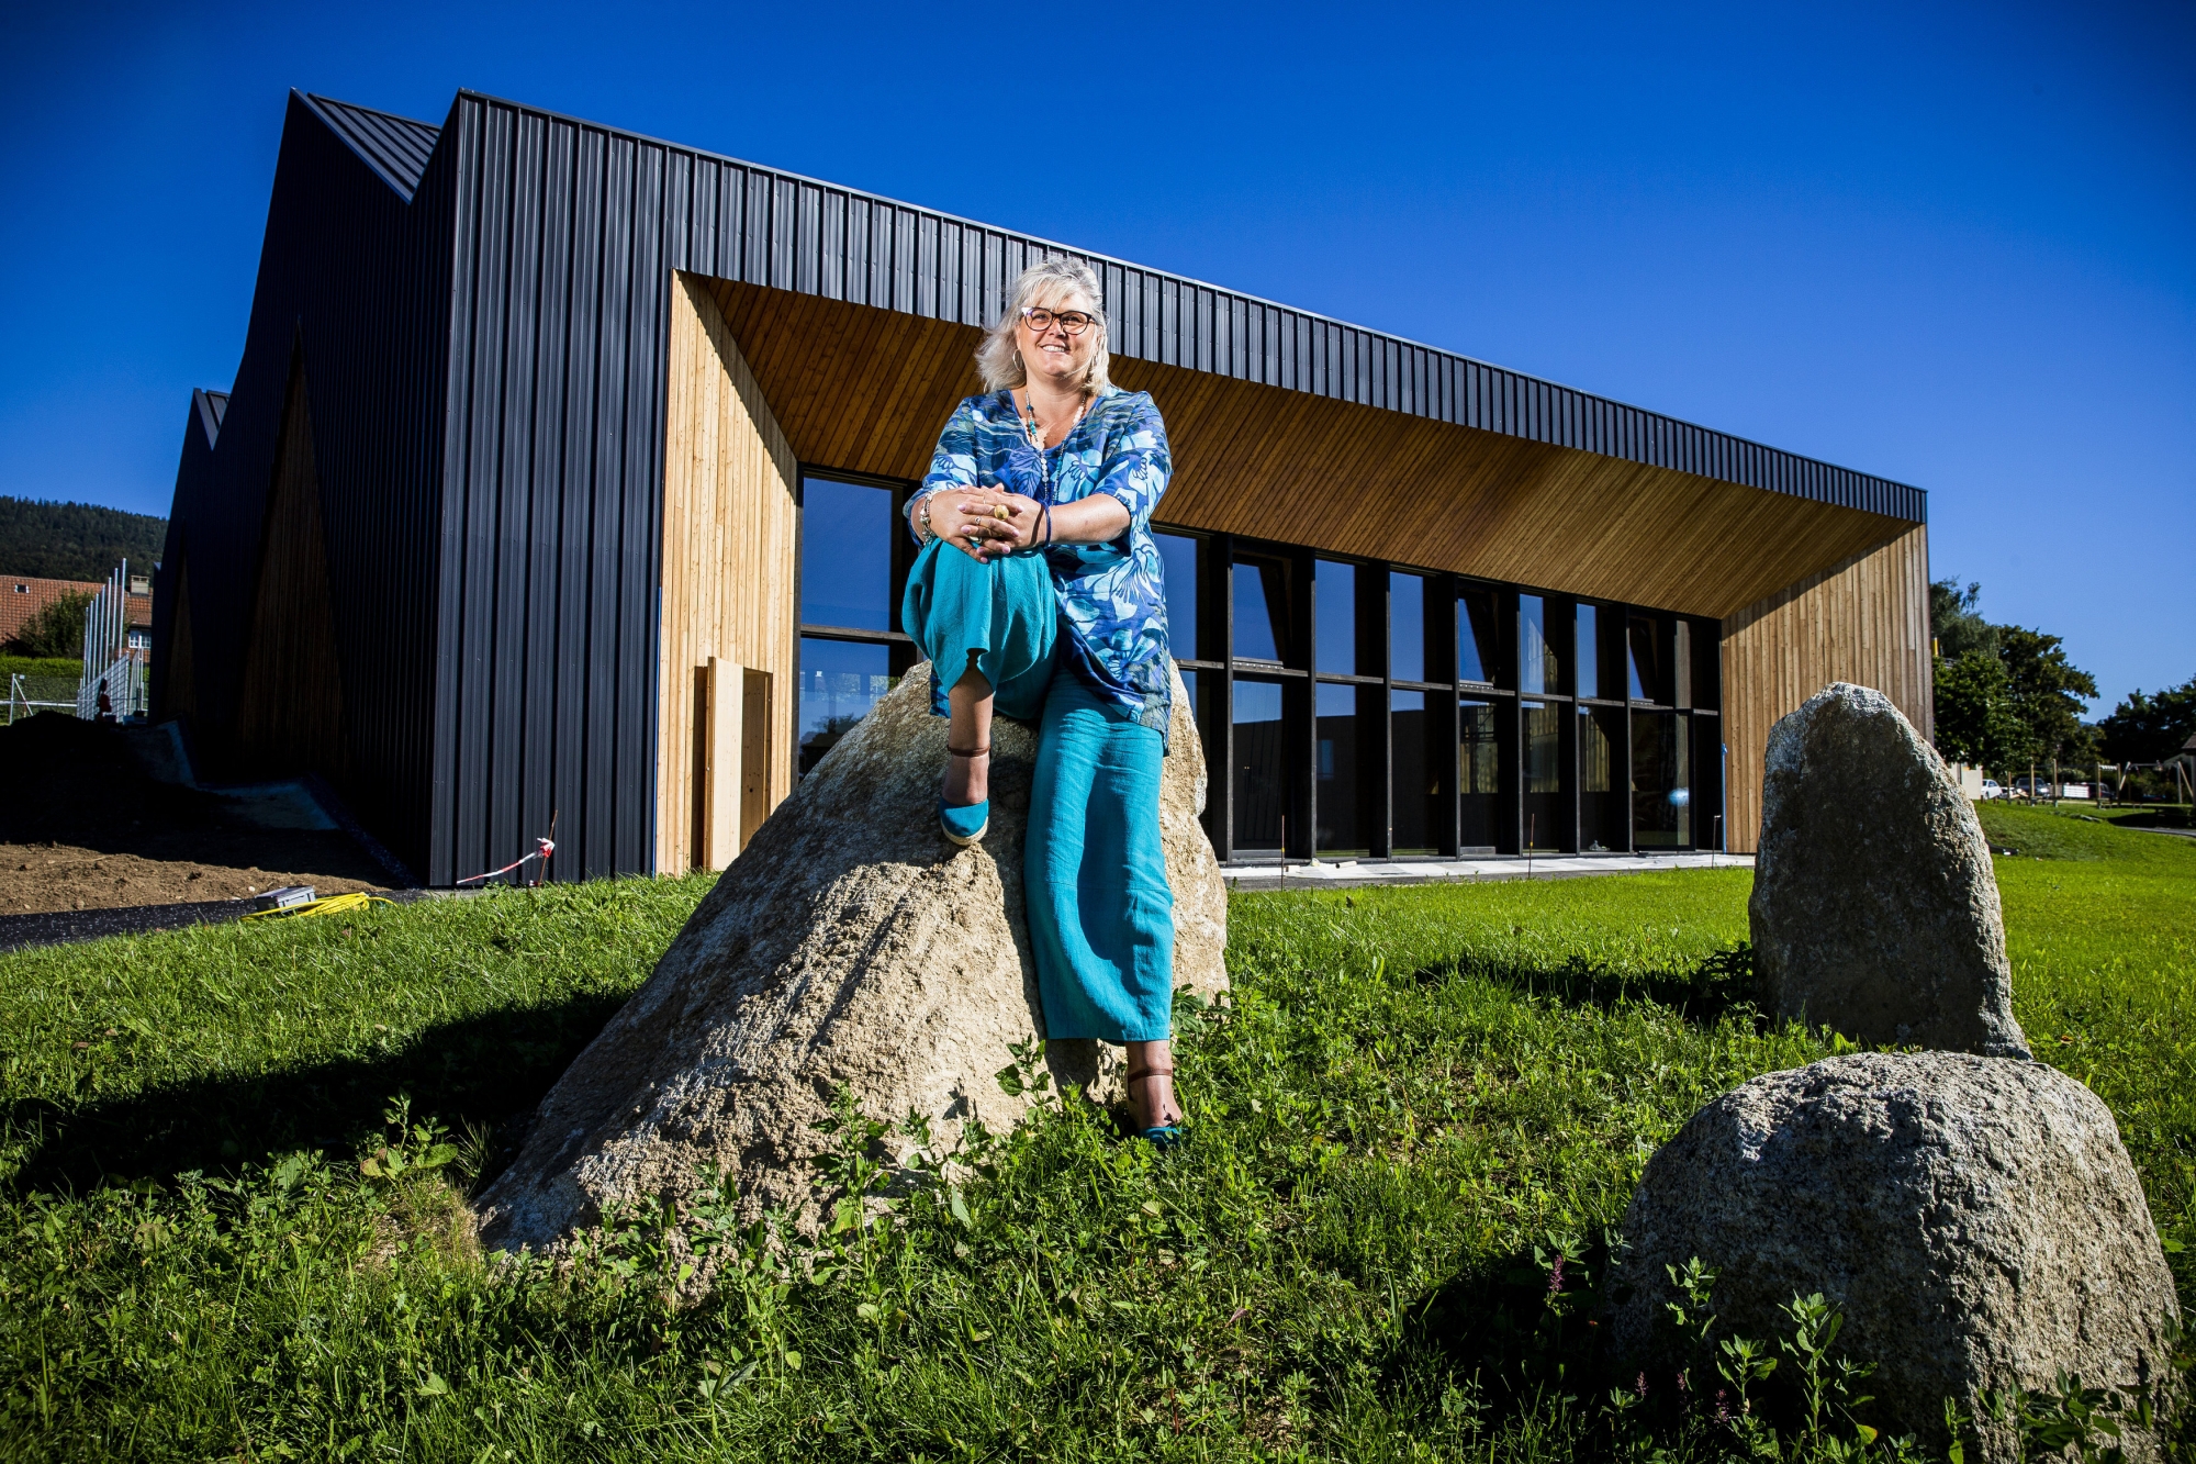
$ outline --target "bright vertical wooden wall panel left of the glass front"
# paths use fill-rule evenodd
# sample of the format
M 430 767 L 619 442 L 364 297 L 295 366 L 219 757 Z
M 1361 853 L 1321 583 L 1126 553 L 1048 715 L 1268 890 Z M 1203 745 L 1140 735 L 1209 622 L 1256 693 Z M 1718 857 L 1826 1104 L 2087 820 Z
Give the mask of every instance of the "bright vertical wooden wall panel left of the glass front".
M 657 873 L 729 864 L 714 849 L 793 791 L 793 730 L 762 736 L 766 774 L 747 783 L 753 695 L 791 688 L 795 666 L 793 490 L 799 466 L 707 281 L 676 275 L 663 448 L 663 602 L 657 708 Z M 712 675 L 712 662 L 716 675 Z M 716 688 L 707 706 L 703 688 Z M 784 692 L 780 692 L 784 695 Z M 729 725 L 725 725 L 729 723 Z M 740 767 L 725 767 L 731 747 Z M 716 778 L 709 778 L 709 769 Z M 703 807 L 714 796 L 725 807 Z

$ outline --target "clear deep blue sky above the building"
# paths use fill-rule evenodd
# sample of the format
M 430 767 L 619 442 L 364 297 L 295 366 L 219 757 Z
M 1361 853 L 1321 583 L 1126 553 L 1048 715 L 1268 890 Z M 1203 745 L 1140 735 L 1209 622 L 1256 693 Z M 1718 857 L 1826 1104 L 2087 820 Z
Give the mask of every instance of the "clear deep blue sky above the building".
M 2196 9 L 11 13 L 0 492 L 167 512 L 296 86 L 459 86 L 1392 330 L 1930 492 L 2106 706 L 2196 675 Z

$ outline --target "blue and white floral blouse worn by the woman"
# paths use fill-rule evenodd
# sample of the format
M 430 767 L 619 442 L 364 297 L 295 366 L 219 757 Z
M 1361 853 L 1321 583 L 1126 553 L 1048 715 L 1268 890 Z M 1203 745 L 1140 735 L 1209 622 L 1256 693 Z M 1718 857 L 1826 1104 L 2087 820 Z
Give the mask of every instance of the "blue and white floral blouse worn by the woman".
M 907 508 L 914 517 L 916 506 L 942 488 L 1004 488 L 1039 503 L 1074 503 L 1094 492 L 1120 499 L 1129 510 L 1120 539 L 1063 543 L 1041 554 L 1052 567 L 1076 675 L 1129 721 L 1164 736 L 1173 681 L 1166 580 L 1151 514 L 1170 473 L 1166 422 L 1149 391 L 1102 391 L 1067 440 L 1045 453 L 1045 464 L 1015 413 L 1015 393 L 995 391 L 971 396 L 953 411 L 922 490 Z

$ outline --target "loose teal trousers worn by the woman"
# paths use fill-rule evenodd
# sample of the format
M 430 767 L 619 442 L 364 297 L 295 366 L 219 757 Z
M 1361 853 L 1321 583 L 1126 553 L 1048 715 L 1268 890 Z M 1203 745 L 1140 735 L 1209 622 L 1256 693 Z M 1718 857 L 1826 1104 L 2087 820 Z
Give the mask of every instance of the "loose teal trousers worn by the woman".
M 1045 1038 L 1164 1042 L 1175 1000 L 1166 741 L 1074 673 L 1039 554 L 979 565 L 931 541 L 907 576 L 900 624 L 931 659 L 933 712 L 949 712 L 946 690 L 975 666 L 1001 717 L 1039 725 L 1021 884 Z

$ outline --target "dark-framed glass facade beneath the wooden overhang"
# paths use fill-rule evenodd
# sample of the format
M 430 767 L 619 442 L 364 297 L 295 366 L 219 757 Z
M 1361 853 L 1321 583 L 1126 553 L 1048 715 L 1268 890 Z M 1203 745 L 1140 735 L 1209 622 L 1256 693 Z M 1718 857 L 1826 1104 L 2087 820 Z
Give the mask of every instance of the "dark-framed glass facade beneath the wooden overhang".
M 920 655 L 898 624 L 905 492 L 802 484 L 802 774 Z M 1223 859 L 1722 838 L 1713 622 L 1228 534 L 1155 539 Z

